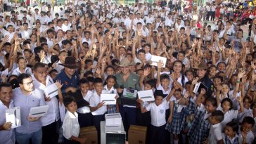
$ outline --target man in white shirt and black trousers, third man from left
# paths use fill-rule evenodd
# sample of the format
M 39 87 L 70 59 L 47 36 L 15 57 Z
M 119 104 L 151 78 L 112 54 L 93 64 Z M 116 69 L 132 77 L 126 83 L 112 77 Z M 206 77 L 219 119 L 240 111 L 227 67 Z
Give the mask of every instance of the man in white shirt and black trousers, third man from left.
M 36 63 L 33 68 L 32 79 L 34 80 L 34 88 L 44 93 L 44 98 L 46 100 L 46 105 L 49 105 L 49 110 L 46 116 L 41 117 L 42 131 L 43 131 L 43 144 L 47 143 L 57 143 L 58 133 L 57 129 L 60 120 L 60 109 L 65 113 L 65 107 L 62 103 L 58 102 L 58 99 L 54 96 L 49 98 L 45 96 L 45 90 L 47 86 L 54 84 L 53 79 L 47 75 L 46 66 L 44 63 Z M 58 86 L 58 98 L 62 102 L 62 94 L 60 90 L 60 83 L 56 82 Z M 60 107 L 60 109 L 59 109 Z

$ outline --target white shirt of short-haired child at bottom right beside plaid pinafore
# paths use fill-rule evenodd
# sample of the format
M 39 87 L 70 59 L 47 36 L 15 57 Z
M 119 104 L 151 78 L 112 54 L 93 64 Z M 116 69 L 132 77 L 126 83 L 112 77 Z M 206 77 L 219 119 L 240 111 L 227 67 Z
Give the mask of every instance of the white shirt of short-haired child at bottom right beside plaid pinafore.
M 214 124 L 209 132 L 208 144 L 216 144 L 218 140 L 222 140 L 222 129 L 220 124 Z

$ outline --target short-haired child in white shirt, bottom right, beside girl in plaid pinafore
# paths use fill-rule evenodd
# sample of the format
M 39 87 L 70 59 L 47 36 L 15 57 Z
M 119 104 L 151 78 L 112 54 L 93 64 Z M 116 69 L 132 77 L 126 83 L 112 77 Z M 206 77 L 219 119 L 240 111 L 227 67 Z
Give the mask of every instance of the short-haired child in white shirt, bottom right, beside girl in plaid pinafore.
M 222 126 L 220 123 L 224 119 L 224 114 L 220 110 L 216 110 L 215 112 L 212 112 L 212 115 L 209 118 L 209 122 L 212 124 L 208 136 L 208 143 L 209 144 L 222 144 L 223 138 L 222 138 Z

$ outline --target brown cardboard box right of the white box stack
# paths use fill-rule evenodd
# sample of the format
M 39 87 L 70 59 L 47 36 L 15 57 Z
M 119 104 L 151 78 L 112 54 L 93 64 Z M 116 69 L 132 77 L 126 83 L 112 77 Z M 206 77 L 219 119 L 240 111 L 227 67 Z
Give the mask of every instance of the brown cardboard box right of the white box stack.
M 132 144 L 145 144 L 146 143 L 146 126 L 130 125 L 128 133 L 128 141 Z

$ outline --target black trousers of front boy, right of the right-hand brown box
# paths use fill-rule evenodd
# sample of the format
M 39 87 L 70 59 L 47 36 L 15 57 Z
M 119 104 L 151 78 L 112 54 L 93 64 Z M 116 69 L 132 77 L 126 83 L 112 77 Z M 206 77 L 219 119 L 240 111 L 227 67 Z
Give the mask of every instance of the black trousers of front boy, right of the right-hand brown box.
M 165 144 L 165 125 L 163 126 L 153 126 L 151 125 L 150 129 L 150 144 Z

